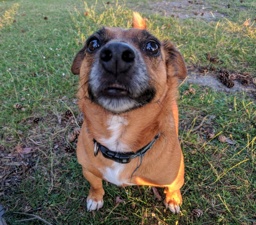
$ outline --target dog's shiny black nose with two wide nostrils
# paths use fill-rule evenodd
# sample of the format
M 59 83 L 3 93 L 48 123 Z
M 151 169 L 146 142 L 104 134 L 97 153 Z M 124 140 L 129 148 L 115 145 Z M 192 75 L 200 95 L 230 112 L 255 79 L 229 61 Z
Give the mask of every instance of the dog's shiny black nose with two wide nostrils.
M 100 62 L 106 71 L 118 75 L 133 65 L 135 52 L 128 44 L 113 42 L 106 44 L 100 52 Z

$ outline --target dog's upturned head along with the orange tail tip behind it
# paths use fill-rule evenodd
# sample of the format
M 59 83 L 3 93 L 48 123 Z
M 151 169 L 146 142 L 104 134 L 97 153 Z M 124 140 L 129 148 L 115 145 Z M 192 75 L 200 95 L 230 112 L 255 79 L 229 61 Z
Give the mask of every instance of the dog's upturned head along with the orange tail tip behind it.
M 172 79 L 187 75 L 179 51 L 150 34 L 138 13 L 133 28 L 103 27 L 92 34 L 71 71 L 80 74 L 83 96 L 113 113 L 157 101 Z

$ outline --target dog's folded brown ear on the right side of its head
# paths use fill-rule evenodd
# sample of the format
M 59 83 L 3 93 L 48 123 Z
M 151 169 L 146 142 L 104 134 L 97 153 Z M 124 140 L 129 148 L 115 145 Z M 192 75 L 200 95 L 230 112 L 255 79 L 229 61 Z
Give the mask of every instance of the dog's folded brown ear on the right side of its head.
M 174 75 L 180 79 L 184 79 L 187 76 L 187 67 L 183 60 L 180 52 L 175 48 L 175 46 L 169 41 L 164 40 L 162 42 L 163 49 L 165 52 L 165 63 L 167 68 L 167 75 L 172 76 L 173 71 L 171 71 L 170 66 L 174 67 Z M 168 74 L 169 73 L 169 74 Z

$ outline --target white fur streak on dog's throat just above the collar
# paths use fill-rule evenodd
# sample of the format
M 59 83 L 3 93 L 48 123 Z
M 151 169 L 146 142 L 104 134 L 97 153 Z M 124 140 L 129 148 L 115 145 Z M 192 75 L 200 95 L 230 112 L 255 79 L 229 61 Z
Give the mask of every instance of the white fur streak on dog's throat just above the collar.
M 100 143 L 114 152 L 129 151 L 129 146 L 126 146 L 126 144 L 119 140 L 120 136 L 128 125 L 127 119 L 122 116 L 114 115 L 110 117 L 107 123 L 111 136 L 109 138 L 100 138 Z

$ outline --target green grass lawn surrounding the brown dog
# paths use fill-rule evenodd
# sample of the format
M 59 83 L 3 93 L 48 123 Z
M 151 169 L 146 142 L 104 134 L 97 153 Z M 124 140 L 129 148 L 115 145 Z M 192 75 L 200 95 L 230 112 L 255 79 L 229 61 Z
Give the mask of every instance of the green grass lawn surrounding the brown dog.
M 78 77 L 71 75 L 70 66 L 86 37 L 103 25 L 130 27 L 132 9 L 142 4 L 115 3 L 98 1 L 95 8 L 95 1 L 87 6 L 67 0 L 0 2 L 0 203 L 7 210 L 7 224 L 41 224 L 15 223 L 29 217 L 14 212 L 33 213 L 52 224 L 255 224 L 255 100 L 248 93 L 196 85 L 196 94 L 182 95 L 186 83 L 180 86 L 179 99 L 186 182 L 181 213 L 169 213 L 151 187 L 120 188 L 107 182 L 103 209 L 86 212 L 89 183 L 75 154 L 64 152 L 66 137 L 77 125 L 63 113 L 71 109 L 80 116 L 74 104 Z M 247 11 L 238 2 L 229 11 L 220 3 L 208 1 L 225 13 L 227 18 L 219 21 L 143 15 L 152 33 L 178 45 L 188 65 L 208 64 L 205 53 L 211 52 L 224 61 L 223 67 L 255 76 L 255 23 L 241 24 L 253 18 L 256 3 L 247 0 Z M 14 109 L 17 102 L 25 111 Z M 207 115 L 215 117 L 192 132 Z M 32 122 L 35 116 L 41 118 L 39 124 Z M 235 144 L 209 141 L 208 131 Z M 32 151 L 20 155 L 18 144 Z M 125 204 L 115 204 L 117 196 Z M 196 208 L 204 211 L 199 219 L 191 216 Z

